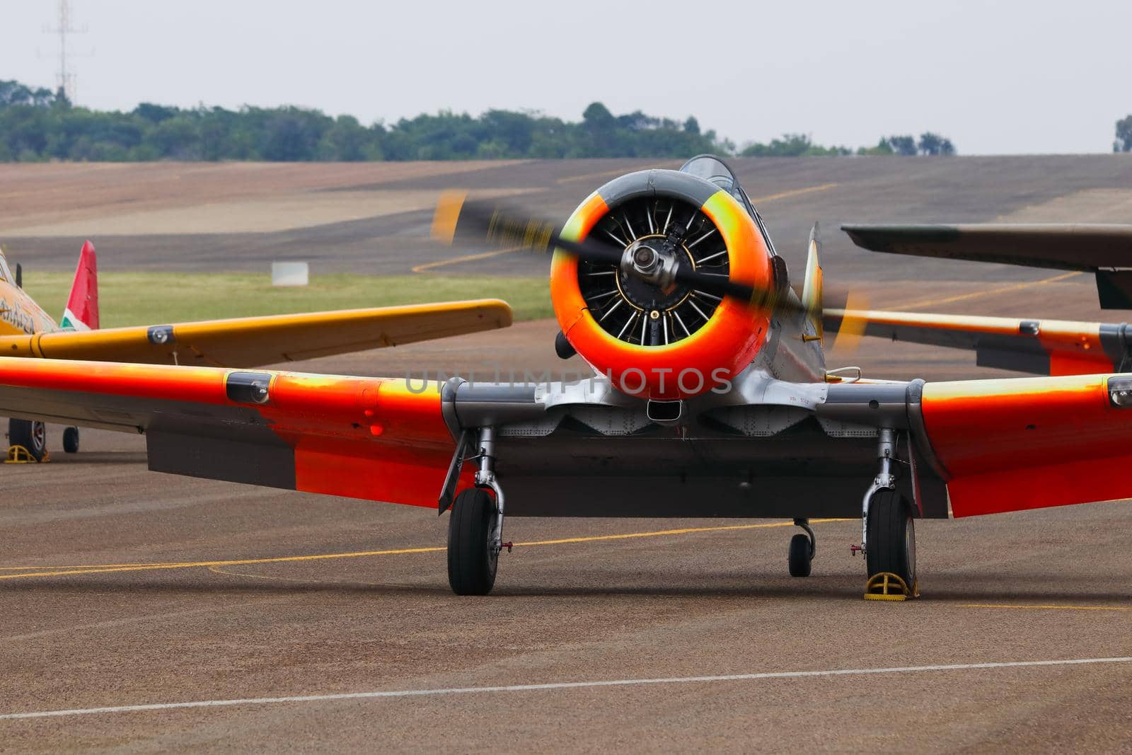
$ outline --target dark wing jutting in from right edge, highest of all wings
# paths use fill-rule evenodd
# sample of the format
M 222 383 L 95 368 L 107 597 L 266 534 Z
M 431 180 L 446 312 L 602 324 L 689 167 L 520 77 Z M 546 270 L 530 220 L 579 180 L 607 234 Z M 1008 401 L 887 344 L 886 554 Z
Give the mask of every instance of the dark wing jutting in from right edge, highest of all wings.
M 972 223 L 842 225 L 858 247 L 1096 274 L 1104 309 L 1132 309 L 1132 225 Z

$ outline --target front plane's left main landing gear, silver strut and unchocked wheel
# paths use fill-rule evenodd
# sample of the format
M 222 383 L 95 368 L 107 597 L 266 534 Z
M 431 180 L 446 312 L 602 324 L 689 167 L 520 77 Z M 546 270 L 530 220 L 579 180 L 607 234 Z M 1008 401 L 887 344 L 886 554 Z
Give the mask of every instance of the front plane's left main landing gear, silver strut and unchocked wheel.
M 486 595 L 495 585 L 503 541 L 503 489 L 495 477 L 495 428 L 480 429 L 475 488 L 456 496 L 448 520 L 448 584 L 457 595 Z M 495 494 L 492 497 L 491 494 Z

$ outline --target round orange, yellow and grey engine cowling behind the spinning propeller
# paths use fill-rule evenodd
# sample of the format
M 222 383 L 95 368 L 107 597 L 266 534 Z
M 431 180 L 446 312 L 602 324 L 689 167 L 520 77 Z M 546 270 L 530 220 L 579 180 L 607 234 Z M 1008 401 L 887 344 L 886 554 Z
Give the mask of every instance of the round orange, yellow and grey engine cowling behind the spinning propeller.
M 771 251 L 739 201 L 714 183 L 669 170 L 629 173 L 583 201 L 565 234 L 628 248 L 672 238 L 681 264 L 758 288 L 772 285 Z M 621 392 L 671 401 L 726 386 L 762 348 L 765 310 L 677 283 L 668 290 L 614 265 L 556 252 L 550 298 L 563 333 Z

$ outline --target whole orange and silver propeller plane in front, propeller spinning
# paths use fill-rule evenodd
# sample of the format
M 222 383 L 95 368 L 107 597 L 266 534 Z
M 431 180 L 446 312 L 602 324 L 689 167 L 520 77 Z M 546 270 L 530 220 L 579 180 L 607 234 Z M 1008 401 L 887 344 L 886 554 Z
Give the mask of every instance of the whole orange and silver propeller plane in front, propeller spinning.
M 556 350 L 592 377 L 0 358 L 0 413 L 144 432 L 155 471 L 451 509 L 458 594 L 491 591 L 505 515 L 792 520 L 798 577 L 812 517 L 859 517 L 866 598 L 900 600 L 918 594 L 916 520 L 1132 496 L 1132 376 L 831 369 L 816 232 L 799 295 L 718 157 L 617 178 L 561 226 L 449 198 L 434 232 L 551 252 Z M 830 315 L 869 327 L 855 311 Z

